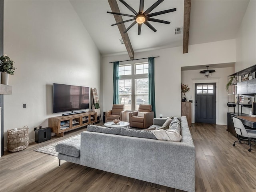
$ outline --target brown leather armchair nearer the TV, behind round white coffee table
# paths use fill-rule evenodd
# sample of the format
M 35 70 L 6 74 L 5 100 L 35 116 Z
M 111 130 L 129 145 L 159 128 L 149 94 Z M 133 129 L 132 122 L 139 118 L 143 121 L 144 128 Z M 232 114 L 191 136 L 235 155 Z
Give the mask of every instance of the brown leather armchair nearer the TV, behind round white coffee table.
M 119 119 L 120 121 L 126 121 L 126 111 L 124 105 L 113 104 L 112 110 L 106 111 L 106 122 Z

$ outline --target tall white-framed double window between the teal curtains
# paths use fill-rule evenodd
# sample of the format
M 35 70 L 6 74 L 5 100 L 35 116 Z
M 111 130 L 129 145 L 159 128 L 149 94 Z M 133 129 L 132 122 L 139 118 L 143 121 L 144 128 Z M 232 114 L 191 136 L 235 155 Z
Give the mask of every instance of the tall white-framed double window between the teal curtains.
M 119 103 L 125 110 L 148 104 L 148 62 L 119 66 Z

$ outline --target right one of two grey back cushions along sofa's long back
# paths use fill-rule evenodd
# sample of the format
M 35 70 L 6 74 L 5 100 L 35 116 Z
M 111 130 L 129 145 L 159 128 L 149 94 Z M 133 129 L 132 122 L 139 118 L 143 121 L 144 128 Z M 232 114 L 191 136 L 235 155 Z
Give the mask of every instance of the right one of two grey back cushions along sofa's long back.
M 147 138 L 147 139 L 156 139 L 156 136 L 154 136 L 154 134 L 152 132 L 145 131 L 145 130 L 122 128 L 121 135 L 130 136 L 130 137 Z

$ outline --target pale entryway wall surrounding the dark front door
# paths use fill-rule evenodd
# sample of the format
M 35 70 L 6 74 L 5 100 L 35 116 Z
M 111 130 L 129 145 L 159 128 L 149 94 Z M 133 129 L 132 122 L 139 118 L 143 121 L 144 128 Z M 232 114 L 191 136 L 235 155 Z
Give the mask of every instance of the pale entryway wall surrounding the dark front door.
M 192 122 L 195 119 L 195 83 L 216 83 L 216 124 L 227 124 L 227 92 L 226 84 L 228 74 L 234 72 L 234 67 L 214 68 L 216 72 L 212 73 L 209 78 L 203 77 L 199 72 L 201 70 L 188 70 L 181 72 L 182 84 L 188 84 L 190 92 L 186 93 L 187 100 L 192 100 Z

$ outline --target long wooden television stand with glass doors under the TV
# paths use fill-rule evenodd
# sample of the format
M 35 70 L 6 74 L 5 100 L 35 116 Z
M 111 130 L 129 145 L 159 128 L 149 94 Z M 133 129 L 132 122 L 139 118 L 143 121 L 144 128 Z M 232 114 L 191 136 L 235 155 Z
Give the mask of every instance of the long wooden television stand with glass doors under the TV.
M 63 137 L 64 132 L 81 128 L 97 121 L 97 112 L 89 111 L 80 114 L 70 114 L 66 116 L 50 117 L 49 127 L 56 136 Z

